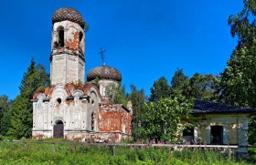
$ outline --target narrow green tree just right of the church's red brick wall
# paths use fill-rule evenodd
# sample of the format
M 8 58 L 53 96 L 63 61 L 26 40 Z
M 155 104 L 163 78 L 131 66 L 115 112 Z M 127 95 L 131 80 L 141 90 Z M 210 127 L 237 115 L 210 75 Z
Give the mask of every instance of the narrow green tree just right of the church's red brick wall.
M 143 117 L 142 108 L 144 106 L 145 96 L 144 89 L 138 90 L 134 85 L 131 85 L 131 94 L 129 99 L 133 104 L 133 119 L 132 119 L 132 136 L 136 141 L 142 139 L 141 134 L 141 119 Z

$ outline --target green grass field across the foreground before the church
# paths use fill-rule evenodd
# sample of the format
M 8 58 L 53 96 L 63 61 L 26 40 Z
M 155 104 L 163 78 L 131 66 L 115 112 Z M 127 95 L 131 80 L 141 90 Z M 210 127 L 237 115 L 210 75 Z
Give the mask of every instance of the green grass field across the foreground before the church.
M 255 152 L 254 152 L 255 151 Z M 254 152 L 254 154 L 253 154 Z M 251 150 L 255 157 L 256 150 Z M 254 162 L 255 163 L 255 162 Z M 254 164 L 253 159 L 205 150 L 173 151 L 166 148 L 138 149 L 76 144 L 0 142 L 0 164 Z

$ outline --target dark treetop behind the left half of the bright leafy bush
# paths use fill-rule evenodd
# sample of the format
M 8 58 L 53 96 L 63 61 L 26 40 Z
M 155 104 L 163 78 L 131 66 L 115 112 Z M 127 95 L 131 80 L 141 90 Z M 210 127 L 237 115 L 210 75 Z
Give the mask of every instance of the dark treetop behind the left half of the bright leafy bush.
M 154 82 L 152 88 L 150 88 L 151 95 L 149 101 L 157 101 L 159 98 L 168 98 L 170 96 L 170 86 L 165 77 L 160 77 Z

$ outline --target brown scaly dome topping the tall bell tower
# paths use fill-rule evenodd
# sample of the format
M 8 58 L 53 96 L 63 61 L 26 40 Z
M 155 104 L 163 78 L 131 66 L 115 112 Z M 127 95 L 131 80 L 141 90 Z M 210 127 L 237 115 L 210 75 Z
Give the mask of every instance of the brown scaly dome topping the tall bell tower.
M 82 28 L 85 26 L 84 19 L 80 12 L 77 10 L 70 8 L 70 7 L 62 7 L 59 8 L 53 15 L 52 15 L 52 24 L 56 22 L 66 21 L 69 20 L 71 22 L 79 24 Z

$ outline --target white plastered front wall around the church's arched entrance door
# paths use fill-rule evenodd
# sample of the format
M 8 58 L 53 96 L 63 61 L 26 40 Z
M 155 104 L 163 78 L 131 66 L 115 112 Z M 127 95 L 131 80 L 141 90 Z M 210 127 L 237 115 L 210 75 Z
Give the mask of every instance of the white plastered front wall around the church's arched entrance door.
M 39 98 L 33 103 L 33 136 L 44 134 L 45 138 L 53 136 L 53 126 L 57 120 L 63 121 L 64 131 L 86 130 L 87 124 L 87 100 L 80 99 L 83 92 L 73 92 L 74 99 L 66 101 L 69 96 L 64 86 L 54 88 L 49 102 L 43 102 Z M 57 99 L 61 99 L 61 103 Z

